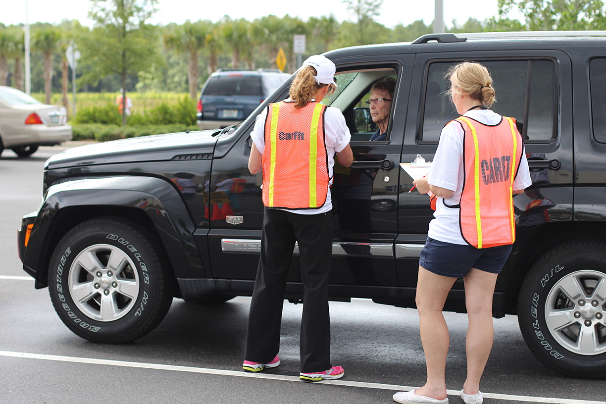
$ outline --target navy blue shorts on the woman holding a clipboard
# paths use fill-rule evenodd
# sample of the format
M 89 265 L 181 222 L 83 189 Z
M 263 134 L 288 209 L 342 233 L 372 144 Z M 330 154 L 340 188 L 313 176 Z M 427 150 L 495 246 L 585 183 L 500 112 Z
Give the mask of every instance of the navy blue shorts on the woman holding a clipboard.
M 419 265 L 442 276 L 462 278 L 471 268 L 498 274 L 501 272 L 512 245 L 475 248 L 471 245 L 445 243 L 427 237 L 421 250 Z

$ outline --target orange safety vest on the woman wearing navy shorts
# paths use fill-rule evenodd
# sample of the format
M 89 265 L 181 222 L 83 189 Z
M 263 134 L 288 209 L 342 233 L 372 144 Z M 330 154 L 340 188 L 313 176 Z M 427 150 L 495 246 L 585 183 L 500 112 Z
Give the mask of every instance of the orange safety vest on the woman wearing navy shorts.
M 465 180 L 459 204 L 463 239 L 476 248 L 513 244 L 513 180 L 524 145 L 515 121 L 506 116 L 496 126 L 456 119 L 465 131 Z

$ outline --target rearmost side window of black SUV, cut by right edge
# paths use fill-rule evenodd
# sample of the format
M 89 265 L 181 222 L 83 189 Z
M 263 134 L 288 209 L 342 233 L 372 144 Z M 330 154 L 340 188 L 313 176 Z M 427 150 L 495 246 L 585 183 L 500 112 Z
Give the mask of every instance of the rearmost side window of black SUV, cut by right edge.
M 591 123 L 596 142 L 606 143 L 606 59 L 593 59 L 589 64 Z

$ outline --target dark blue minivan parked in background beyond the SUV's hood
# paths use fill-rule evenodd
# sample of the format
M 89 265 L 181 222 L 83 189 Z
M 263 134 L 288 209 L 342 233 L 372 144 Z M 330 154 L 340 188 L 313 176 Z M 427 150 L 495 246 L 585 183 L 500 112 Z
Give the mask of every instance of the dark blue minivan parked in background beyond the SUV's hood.
M 244 121 L 288 78 L 288 73 L 274 69 L 215 71 L 200 94 L 198 128 L 225 128 Z

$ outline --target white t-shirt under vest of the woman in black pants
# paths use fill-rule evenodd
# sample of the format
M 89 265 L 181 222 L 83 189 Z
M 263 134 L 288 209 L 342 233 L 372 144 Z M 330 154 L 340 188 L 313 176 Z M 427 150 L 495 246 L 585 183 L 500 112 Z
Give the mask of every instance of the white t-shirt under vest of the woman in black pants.
M 290 100 L 286 100 L 290 101 Z M 256 118 L 255 128 L 250 137 L 253 139 L 257 150 L 263 154 L 265 150 L 265 119 L 267 118 L 268 108 L 265 108 Z M 345 123 L 345 117 L 339 108 L 327 107 L 324 112 L 324 139 L 326 143 L 326 152 L 328 156 L 328 176 L 330 182 L 328 186 L 333 184 L 333 165 L 335 165 L 335 153 L 341 152 L 351 139 L 349 128 Z M 330 211 L 333 208 L 330 198 L 330 190 L 326 195 L 326 202 L 318 209 L 284 209 L 288 212 L 299 214 L 319 214 Z

